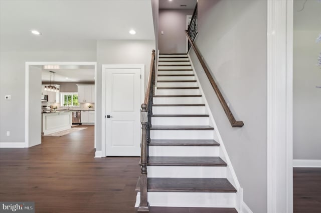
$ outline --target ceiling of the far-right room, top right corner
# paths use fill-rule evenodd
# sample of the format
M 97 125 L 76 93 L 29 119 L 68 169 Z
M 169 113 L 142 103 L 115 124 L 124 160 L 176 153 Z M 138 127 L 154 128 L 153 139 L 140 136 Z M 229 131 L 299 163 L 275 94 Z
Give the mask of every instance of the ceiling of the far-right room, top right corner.
M 293 4 L 293 29 L 321 32 L 321 1 L 294 0 Z

